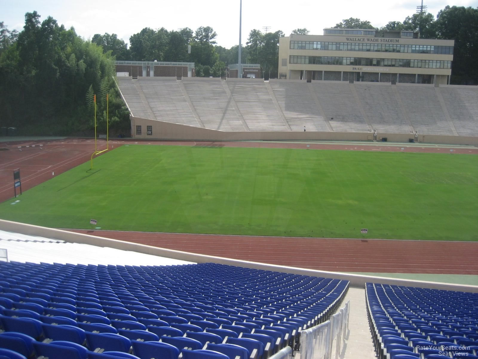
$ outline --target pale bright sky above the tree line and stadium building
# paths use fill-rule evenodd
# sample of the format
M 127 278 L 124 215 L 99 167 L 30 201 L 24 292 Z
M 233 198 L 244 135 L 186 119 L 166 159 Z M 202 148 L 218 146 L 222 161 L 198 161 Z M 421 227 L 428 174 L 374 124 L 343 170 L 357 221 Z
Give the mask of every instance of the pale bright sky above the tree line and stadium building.
M 402 22 L 411 16 L 419 0 L 242 0 L 242 45 L 252 29 L 282 30 L 286 35 L 297 28 L 322 35 L 324 28 L 350 17 L 368 20 L 375 27 L 390 21 Z M 478 7 L 478 0 L 424 0 L 434 16 L 446 5 Z M 25 13 L 37 11 L 43 21 L 52 16 L 76 34 L 91 39 L 94 34 L 117 34 L 125 43 L 145 27 L 177 31 L 211 26 L 217 45 L 230 48 L 239 44 L 239 0 L 134 1 L 134 0 L 0 0 L 0 22 L 9 30 L 22 31 Z

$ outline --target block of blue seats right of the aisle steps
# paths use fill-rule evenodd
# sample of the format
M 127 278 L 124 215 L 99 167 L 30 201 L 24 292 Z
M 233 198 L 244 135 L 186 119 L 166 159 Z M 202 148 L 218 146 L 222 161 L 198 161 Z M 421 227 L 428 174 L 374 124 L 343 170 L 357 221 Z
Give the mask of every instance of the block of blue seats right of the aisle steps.
M 475 293 L 425 290 L 401 286 L 367 283 L 366 299 L 370 330 L 379 358 L 478 359 L 478 326 L 473 313 L 463 316 L 444 314 L 441 307 L 431 308 L 418 305 L 418 294 L 427 293 L 438 298 L 461 298 L 447 306 L 455 307 L 478 297 Z M 403 293 L 407 301 L 404 301 Z M 410 293 L 415 293 L 411 295 Z M 433 294 L 433 295 L 432 295 Z M 443 297 L 441 295 L 443 294 Z M 424 294 L 425 295 L 425 294 Z M 410 303 L 407 303 L 410 301 Z M 440 303 L 441 300 L 437 300 Z M 471 314 L 471 315 L 470 315 Z M 468 324 L 468 325 L 466 325 Z

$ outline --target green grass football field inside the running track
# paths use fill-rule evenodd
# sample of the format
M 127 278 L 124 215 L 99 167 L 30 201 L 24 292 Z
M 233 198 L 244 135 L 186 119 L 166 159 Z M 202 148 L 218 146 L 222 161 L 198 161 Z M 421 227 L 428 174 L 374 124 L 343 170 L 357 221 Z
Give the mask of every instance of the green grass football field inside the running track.
M 478 156 L 306 149 L 116 148 L 0 204 L 60 228 L 478 240 Z M 360 234 L 367 228 L 366 235 Z

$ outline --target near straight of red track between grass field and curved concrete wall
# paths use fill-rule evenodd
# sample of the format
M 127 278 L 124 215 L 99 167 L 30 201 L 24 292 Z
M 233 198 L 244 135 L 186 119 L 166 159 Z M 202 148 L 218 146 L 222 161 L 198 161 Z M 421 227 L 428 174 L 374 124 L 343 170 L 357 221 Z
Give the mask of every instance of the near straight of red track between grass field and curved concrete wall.
M 72 231 L 197 254 L 308 269 L 478 275 L 478 242 Z

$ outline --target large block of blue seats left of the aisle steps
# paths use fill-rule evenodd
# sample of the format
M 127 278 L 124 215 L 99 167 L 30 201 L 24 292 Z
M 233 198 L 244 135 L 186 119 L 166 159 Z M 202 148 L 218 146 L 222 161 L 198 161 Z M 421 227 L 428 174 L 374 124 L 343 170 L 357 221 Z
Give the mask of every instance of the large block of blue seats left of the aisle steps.
M 0 348 L 32 358 L 176 359 L 183 350 L 266 359 L 296 347 L 297 333 L 328 318 L 347 289 L 346 280 L 212 263 L 0 262 Z

